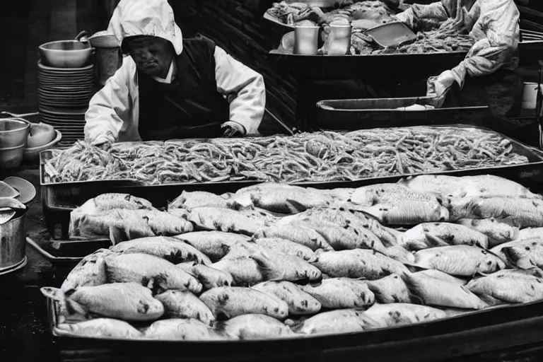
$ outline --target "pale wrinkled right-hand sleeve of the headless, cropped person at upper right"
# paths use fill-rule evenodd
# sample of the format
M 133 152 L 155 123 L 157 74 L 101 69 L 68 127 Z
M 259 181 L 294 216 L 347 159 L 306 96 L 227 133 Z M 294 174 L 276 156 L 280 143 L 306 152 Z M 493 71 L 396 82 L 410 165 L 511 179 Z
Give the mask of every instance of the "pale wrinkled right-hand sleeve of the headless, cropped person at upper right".
M 470 33 L 476 42 L 466 58 L 452 69 L 461 88 L 468 75 L 485 76 L 500 69 L 520 40 L 520 14 L 513 0 L 477 1 L 469 15 L 477 18 Z

